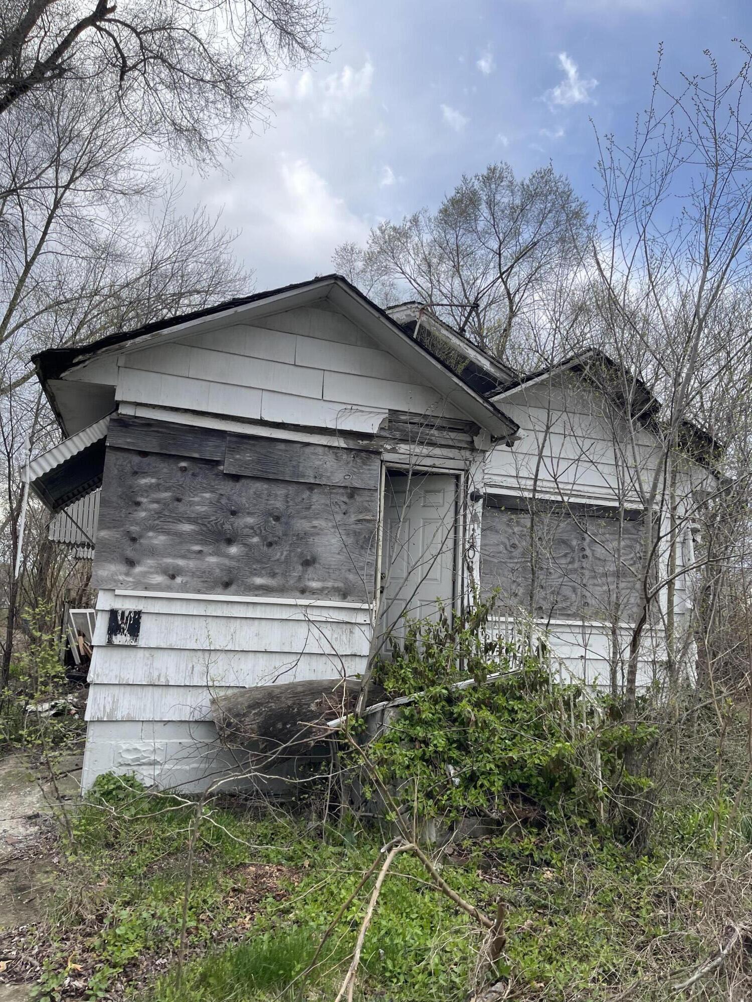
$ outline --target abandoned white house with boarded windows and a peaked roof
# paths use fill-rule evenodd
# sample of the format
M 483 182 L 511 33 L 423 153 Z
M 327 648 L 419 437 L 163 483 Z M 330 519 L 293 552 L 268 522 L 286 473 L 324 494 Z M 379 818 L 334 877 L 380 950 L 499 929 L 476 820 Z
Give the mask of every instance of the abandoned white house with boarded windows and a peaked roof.
M 624 447 L 587 379 L 603 357 L 520 378 L 327 276 L 34 362 L 65 439 L 32 489 L 74 527 L 57 538 L 95 544 L 84 786 L 201 787 L 226 764 L 213 693 L 355 675 L 374 629 L 478 582 L 562 669 L 621 670 L 655 443 L 644 422 Z M 650 677 L 660 650 L 641 657 Z

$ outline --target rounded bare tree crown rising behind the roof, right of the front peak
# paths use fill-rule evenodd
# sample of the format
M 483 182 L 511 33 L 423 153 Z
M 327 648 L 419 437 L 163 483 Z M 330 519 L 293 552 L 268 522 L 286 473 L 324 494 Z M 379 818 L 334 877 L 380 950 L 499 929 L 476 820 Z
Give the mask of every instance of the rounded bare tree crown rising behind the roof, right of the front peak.
M 377 300 L 417 297 L 504 359 L 515 322 L 551 294 L 587 244 L 585 203 L 552 167 L 516 178 L 508 163 L 462 177 L 435 211 L 382 222 L 365 247 L 337 248 L 337 271 Z M 555 286 L 555 283 L 553 283 Z

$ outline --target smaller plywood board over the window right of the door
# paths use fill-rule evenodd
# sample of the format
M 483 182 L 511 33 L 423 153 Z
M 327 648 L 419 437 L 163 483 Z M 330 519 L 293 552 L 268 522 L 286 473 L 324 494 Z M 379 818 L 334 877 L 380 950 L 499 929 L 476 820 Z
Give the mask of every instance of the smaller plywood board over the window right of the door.
M 552 619 L 634 617 L 644 520 L 634 510 L 489 495 L 481 588 L 499 609 Z

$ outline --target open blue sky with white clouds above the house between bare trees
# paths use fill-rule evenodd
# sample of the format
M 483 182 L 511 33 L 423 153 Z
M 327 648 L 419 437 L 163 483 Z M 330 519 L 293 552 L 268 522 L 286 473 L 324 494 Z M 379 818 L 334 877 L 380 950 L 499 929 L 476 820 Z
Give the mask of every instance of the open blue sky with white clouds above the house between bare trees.
M 182 172 L 224 210 L 258 289 L 331 270 L 334 246 L 434 206 L 463 172 L 553 163 L 594 207 L 594 126 L 629 137 L 663 77 L 722 75 L 752 44 L 749 0 L 331 0 L 327 62 L 286 73 L 270 126 L 226 171 Z M 724 72 L 725 71 L 725 72 Z M 591 121 L 593 120 L 593 122 Z

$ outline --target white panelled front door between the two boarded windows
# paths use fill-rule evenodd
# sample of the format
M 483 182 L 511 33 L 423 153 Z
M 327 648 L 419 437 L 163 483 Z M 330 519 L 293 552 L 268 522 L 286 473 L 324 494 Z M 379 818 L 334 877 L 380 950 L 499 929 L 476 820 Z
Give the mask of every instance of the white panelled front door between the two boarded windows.
M 457 522 L 457 478 L 389 471 L 384 486 L 382 628 L 404 633 L 404 619 L 451 609 Z

